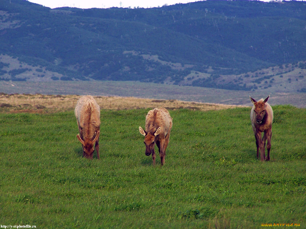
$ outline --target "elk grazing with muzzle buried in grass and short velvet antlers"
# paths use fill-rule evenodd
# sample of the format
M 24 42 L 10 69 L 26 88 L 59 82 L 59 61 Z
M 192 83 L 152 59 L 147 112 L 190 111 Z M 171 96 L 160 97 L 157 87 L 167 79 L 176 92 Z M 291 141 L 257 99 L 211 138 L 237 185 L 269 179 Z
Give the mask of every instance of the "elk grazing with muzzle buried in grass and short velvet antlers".
M 81 97 L 74 109 L 74 115 L 79 128 L 77 139 L 82 143 L 83 157 L 92 159 L 94 150 L 99 155 L 100 107 L 92 96 Z M 95 149 L 94 149 L 95 144 Z

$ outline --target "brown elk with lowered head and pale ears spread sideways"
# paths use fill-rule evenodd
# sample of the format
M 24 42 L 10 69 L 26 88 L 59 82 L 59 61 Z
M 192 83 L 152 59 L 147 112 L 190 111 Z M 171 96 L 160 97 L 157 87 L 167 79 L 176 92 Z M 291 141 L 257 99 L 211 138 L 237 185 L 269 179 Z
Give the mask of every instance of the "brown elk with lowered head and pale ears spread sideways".
M 148 112 L 144 129 L 139 127 L 139 132 L 144 135 L 147 156 L 152 154 L 153 165 L 155 165 L 155 143 L 159 150 L 160 161 L 165 165 L 166 148 L 169 143 L 172 118 L 165 108 L 155 108 Z

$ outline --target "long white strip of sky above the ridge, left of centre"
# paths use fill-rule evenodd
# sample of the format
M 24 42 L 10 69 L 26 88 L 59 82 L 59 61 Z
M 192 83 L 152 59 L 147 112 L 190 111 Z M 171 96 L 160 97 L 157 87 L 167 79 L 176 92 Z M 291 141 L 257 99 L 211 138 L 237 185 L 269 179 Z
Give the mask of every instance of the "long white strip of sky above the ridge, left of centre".
M 157 7 L 165 4 L 174 5 L 176 3 L 196 2 L 196 0 L 29 0 L 39 5 L 50 8 L 63 6 L 76 7 L 82 9 L 88 8 L 110 8 L 110 7 Z

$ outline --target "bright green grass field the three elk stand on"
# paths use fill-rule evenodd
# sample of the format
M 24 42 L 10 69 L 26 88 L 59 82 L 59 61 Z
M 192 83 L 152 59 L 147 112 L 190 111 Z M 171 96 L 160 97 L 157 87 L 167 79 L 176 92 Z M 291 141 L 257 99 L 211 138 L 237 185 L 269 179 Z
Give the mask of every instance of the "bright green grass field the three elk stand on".
M 101 111 L 100 160 L 82 158 L 73 111 L 0 114 L 0 224 L 36 228 L 306 228 L 306 109 L 274 106 L 271 161 L 251 108 L 170 111 L 161 166 L 147 110 Z

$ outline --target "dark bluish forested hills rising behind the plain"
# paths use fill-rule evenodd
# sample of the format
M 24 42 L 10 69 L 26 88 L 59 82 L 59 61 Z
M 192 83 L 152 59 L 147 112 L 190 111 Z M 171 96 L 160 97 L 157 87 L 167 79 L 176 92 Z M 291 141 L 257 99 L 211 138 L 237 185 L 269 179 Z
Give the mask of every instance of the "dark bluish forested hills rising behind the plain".
M 251 81 L 235 82 L 230 75 L 285 64 L 303 69 L 306 2 L 208 0 L 151 9 L 50 9 L 2 0 L 0 53 L 2 80 L 47 80 L 52 73 L 54 80 L 248 90 L 254 88 Z M 8 56 L 20 65 L 9 66 Z

